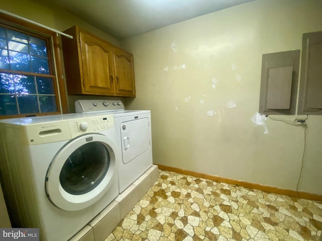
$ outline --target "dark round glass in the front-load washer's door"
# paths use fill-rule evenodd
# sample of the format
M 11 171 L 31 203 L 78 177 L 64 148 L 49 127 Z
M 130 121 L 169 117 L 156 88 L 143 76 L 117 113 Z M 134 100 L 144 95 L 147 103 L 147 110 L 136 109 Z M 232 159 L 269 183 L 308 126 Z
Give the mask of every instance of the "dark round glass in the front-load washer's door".
M 103 180 L 109 165 L 107 148 L 99 142 L 87 143 L 66 160 L 59 175 L 60 184 L 73 195 L 90 192 Z

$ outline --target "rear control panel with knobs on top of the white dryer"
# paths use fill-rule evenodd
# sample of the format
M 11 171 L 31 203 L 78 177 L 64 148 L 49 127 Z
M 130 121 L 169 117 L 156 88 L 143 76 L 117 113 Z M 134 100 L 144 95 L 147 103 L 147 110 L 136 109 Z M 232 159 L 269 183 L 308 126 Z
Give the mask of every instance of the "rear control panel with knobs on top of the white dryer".
M 124 110 L 121 100 L 112 99 L 79 99 L 75 101 L 76 113 Z

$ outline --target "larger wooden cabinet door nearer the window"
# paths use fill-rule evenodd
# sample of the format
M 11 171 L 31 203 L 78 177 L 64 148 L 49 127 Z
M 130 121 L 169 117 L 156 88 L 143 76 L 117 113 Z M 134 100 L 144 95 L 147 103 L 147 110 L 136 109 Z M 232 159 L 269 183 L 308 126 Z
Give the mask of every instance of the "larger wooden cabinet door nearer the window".
M 113 94 L 113 48 L 106 42 L 79 32 L 85 94 Z

